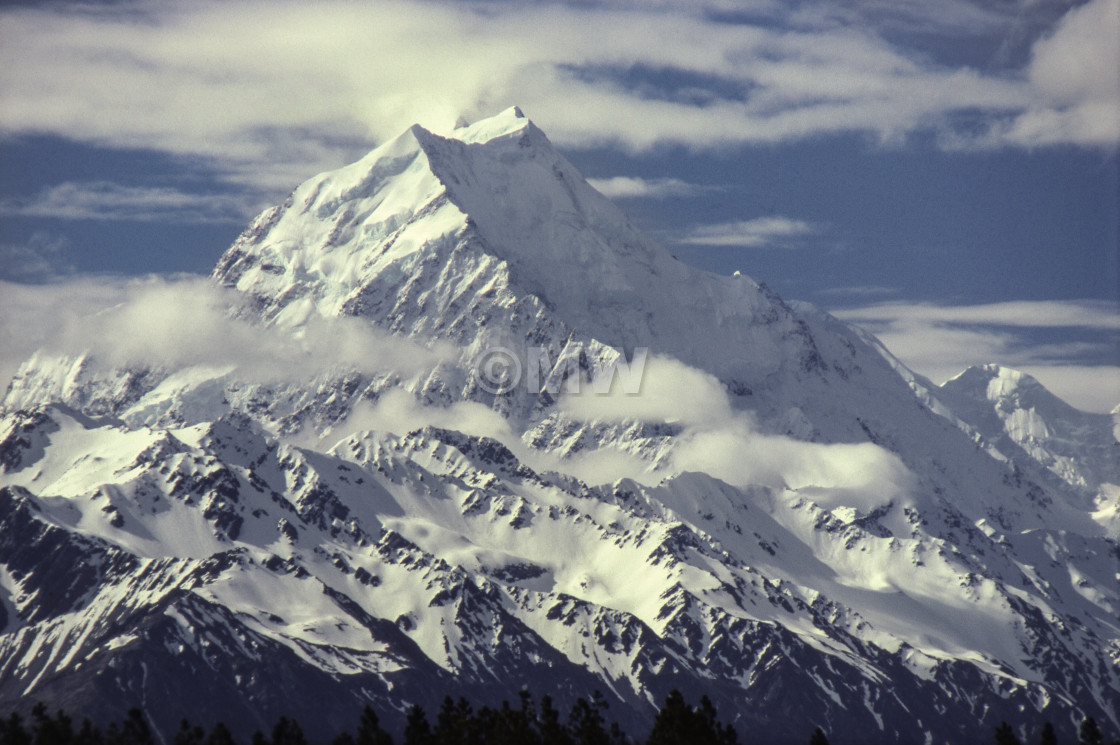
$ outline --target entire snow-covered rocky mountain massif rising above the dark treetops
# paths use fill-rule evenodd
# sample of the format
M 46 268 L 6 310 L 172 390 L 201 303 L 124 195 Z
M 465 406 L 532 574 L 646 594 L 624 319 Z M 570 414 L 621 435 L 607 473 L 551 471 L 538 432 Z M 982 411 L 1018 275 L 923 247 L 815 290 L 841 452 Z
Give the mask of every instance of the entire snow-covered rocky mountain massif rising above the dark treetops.
M 675 687 L 794 742 L 1120 727 L 1113 422 L 676 262 L 517 110 L 413 127 L 144 297 L 7 392 L 0 704 L 327 733 L 522 686 L 647 724 Z M 114 336 L 185 297 L 181 339 Z M 540 388 L 480 384 L 498 347 Z M 564 392 L 638 348 L 640 394 Z

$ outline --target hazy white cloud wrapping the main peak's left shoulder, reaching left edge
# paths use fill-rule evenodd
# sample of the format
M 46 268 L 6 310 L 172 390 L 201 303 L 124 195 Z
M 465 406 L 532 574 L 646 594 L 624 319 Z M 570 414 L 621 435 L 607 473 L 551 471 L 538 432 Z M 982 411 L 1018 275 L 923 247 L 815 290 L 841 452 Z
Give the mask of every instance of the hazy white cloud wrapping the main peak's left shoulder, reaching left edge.
M 408 375 L 448 356 L 356 318 L 254 326 L 230 314 L 243 301 L 195 276 L 0 283 L 0 384 L 37 350 L 92 353 L 106 365 L 228 367 L 251 381 L 334 370 Z

